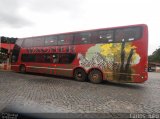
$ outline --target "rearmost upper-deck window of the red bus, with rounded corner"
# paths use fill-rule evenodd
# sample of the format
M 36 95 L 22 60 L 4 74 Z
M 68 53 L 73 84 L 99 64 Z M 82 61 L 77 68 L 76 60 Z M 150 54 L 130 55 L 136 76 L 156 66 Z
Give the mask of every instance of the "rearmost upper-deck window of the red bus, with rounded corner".
M 142 35 L 141 27 L 130 27 L 115 30 L 115 42 L 133 41 Z

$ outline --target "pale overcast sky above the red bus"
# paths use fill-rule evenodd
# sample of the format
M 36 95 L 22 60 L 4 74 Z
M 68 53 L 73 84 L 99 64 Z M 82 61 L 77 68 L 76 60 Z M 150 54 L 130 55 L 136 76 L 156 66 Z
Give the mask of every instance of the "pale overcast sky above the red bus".
M 0 0 L 0 36 L 147 24 L 151 54 L 160 47 L 159 5 L 159 0 Z

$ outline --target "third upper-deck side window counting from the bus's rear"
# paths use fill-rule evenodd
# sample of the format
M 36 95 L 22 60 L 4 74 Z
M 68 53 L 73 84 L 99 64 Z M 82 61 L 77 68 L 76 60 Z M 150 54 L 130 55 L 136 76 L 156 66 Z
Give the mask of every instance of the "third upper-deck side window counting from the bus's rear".
M 89 44 L 91 39 L 91 33 L 78 33 L 75 34 L 74 44 Z

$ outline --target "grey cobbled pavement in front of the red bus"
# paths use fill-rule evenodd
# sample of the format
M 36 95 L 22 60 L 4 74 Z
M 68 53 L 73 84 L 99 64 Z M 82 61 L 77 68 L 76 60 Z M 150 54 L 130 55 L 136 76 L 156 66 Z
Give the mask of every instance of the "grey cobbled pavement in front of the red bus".
M 32 112 L 160 113 L 160 73 L 143 84 L 92 84 L 0 71 L 0 110 L 9 104 Z

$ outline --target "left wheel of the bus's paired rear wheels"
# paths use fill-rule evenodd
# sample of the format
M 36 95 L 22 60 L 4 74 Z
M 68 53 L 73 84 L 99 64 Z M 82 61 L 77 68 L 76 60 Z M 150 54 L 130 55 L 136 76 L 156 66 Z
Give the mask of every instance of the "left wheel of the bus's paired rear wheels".
M 83 69 L 76 69 L 74 71 L 74 79 L 77 81 L 85 81 L 86 80 L 86 72 Z

